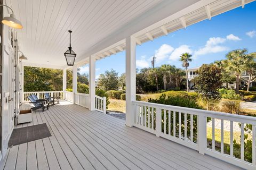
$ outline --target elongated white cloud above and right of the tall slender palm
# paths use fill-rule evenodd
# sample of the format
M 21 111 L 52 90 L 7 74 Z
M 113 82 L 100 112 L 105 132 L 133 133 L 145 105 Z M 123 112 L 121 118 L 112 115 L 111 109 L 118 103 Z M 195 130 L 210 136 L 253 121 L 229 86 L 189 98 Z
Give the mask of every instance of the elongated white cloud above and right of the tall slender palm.
M 219 52 L 228 50 L 227 47 L 220 46 L 220 44 L 225 43 L 226 40 L 227 40 L 226 38 L 221 38 L 221 37 L 209 38 L 209 40 L 207 40 L 204 47 L 199 48 L 198 50 L 195 51 L 193 57 L 197 58 L 197 56 L 199 56 L 199 55 L 206 55 L 206 54 L 210 54 L 210 53 L 219 53 Z

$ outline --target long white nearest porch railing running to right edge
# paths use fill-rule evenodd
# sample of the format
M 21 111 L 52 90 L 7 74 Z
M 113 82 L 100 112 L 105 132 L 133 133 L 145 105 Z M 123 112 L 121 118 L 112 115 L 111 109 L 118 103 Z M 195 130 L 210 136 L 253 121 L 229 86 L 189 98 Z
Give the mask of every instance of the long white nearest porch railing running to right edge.
M 134 126 L 154 133 L 158 137 L 166 138 L 180 143 L 181 145 L 185 145 L 186 147 L 198 150 L 201 154 L 207 154 L 218 159 L 222 159 L 245 169 L 256 169 L 256 117 L 146 103 L 143 101 L 133 101 L 133 104 L 136 108 Z M 212 132 L 212 146 L 210 147 L 207 146 L 207 118 L 212 119 L 212 128 L 210 127 L 210 131 Z M 220 120 L 221 122 L 220 149 L 215 148 L 215 143 L 217 143 L 215 141 L 215 120 Z M 231 142 L 228 143 L 230 151 L 224 150 L 226 146 L 226 143 L 224 143 L 224 130 L 226 130 L 224 127 L 224 121 L 225 123 L 228 122 L 230 125 L 229 138 Z M 252 125 L 251 163 L 244 159 L 244 142 L 241 142 L 241 149 L 238 150 L 239 156 L 234 156 L 234 122 L 241 123 L 241 130 L 239 132 L 241 133 L 241 141 L 244 141 L 245 125 Z M 196 124 L 197 128 L 195 127 Z

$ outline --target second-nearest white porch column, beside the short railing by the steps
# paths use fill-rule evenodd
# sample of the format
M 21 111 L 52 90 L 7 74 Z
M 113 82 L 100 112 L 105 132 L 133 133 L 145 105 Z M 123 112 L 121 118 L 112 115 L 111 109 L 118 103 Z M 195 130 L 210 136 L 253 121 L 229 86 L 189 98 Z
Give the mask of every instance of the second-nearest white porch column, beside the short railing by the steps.
M 95 57 L 91 56 L 89 58 L 89 96 L 90 96 L 90 106 L 89 110 L 95 110 Z

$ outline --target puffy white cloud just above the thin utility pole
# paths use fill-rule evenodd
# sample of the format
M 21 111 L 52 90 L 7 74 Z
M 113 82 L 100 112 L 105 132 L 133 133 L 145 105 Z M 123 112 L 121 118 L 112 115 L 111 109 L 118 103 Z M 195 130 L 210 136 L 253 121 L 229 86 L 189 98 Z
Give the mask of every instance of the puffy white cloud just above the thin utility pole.
M 173 52 L 173 50 L 174 48 L 172 46 L 163 44 L 155 52 L 156 62 L 160 63 L 164 61 Z

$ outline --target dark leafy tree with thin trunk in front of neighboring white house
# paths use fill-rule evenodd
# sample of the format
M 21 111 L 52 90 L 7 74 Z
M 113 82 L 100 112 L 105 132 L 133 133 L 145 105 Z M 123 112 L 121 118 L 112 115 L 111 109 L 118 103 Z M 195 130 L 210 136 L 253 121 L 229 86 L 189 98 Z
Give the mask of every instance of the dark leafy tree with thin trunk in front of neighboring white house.
M 221 98 L 218 89 L 221 88 L 221 69 L 213 64 L 203 64 L 197 70 L 198 76 L 194 78 L 193 82 L 199 89 L 199 93 L 207 101 L 207 109 L 209 109 L 209 102 L 219 100 Z

